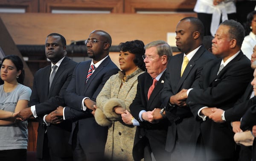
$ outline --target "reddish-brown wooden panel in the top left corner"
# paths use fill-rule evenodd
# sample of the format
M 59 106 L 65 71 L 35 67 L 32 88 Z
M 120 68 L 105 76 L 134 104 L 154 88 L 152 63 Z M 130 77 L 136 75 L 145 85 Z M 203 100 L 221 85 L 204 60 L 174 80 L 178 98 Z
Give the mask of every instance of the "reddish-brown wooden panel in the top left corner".
M 26 12 L 38 12 L 38 0 L 0 0 L 0 7 L 25 8 Z

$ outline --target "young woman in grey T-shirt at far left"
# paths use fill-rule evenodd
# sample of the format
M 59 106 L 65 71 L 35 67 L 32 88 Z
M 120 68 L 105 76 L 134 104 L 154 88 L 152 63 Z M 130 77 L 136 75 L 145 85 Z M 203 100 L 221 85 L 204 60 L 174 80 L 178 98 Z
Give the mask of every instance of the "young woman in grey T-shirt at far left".
M 23 62 L 17 55 L 2 60 L 0 85 L 0 161 L 26 161 L 28 144 L 27 121 L 14 116 L 28 107 L 31 89 L 23 85 Z M 15 112 L 15 113 L 14 113 Z

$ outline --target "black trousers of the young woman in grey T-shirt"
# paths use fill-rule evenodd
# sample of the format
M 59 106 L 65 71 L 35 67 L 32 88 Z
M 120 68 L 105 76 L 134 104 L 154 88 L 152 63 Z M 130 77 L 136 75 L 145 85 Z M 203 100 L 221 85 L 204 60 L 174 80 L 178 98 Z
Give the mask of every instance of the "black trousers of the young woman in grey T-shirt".
M 0 161 L 26 161 L 26 149 L 0 150 Z

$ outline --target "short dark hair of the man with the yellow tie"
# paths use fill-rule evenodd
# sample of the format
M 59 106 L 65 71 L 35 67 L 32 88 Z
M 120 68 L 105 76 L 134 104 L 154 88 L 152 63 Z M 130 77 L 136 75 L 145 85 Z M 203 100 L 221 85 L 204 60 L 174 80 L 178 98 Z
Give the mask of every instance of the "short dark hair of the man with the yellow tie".
M 202 23 L 202 21 L 199 20 L 197 17 L 185 17 L 185 18 L 181 19 L 180 21 L 183 21 L 183 20 L 190 20 L 190 23 L 194 27 L 193 29 L 200 33 L 200 38 L 201 38 L 201 40 L 203 40 L 203 38 L 204 38 L 204 24 Z

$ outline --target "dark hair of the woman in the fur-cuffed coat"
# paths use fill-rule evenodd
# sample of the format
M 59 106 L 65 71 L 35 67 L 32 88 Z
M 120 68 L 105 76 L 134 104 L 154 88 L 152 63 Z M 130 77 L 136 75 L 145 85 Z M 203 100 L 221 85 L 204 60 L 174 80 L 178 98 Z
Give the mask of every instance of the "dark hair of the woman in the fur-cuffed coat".
M 119 48 L 121 51 L 128 51 L 131 54 L 135 54 L 134 64 L 143 71 L 146 70 L 145 63 L 142 57 L 145 54 L 144 46 L 144 42 L 141 40 L 121 42 L 119 44 Z

